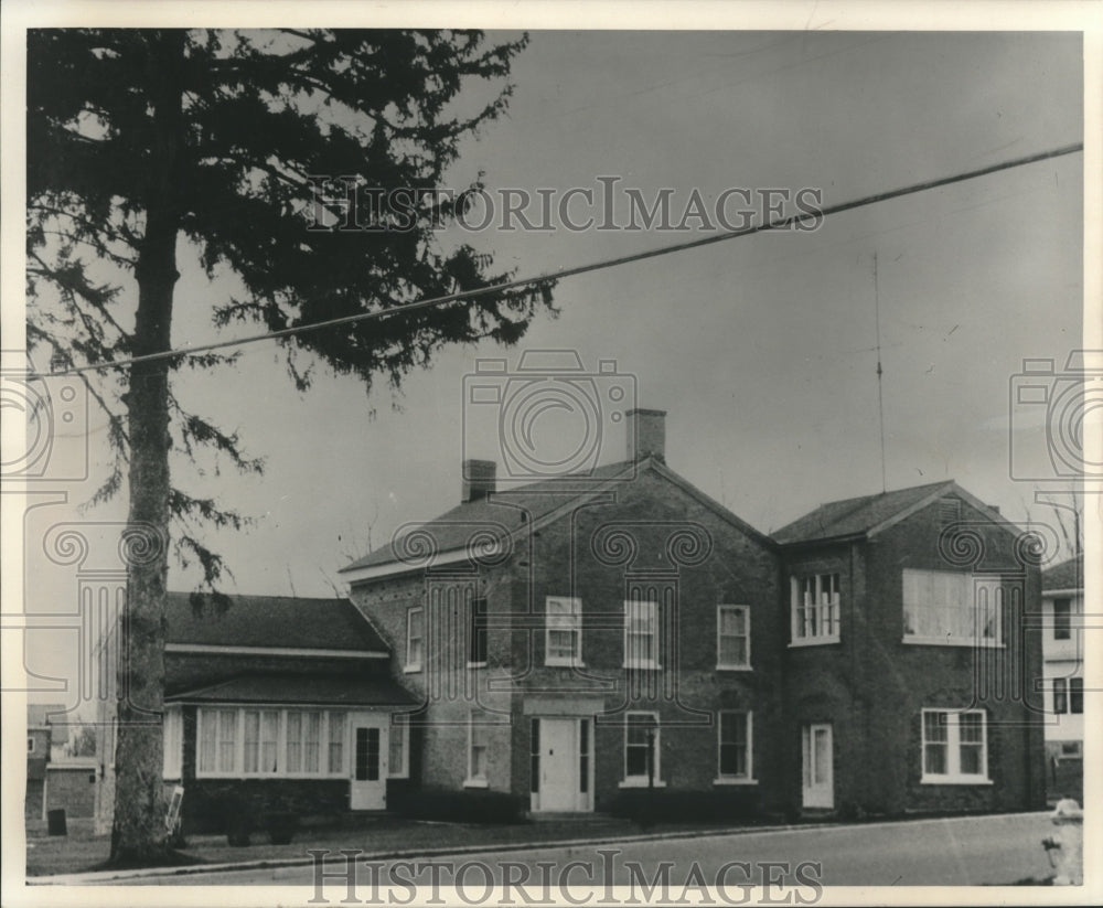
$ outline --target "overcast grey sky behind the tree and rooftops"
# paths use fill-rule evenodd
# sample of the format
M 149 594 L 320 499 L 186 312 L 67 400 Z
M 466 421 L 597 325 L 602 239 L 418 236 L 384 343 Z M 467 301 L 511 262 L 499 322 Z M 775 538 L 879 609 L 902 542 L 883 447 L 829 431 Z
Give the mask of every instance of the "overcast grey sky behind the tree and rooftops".
M 740 188 L 814 189 L 834 205 L 1084 133 L 1082 46 L 1070 33 L 536 32 L 511 81 L 507 116 L 449 173 L 457 190 L 484 172 L 492 192 L 558 199 L 617 177 L 647 200 L 671 190 L 676 212 L 694 192 L 711 203 Z M 175 387 L 265 457 L 265 474 L 199 477 L 180 462 L 175 477 L 254 521 L 207 536 L 234 571 L 227 591 L 333 595 L 343 565 L 458 503 L 464 457 L 502 463 L 500 409 L 465 403 L 479 361 L 504 357 L 516 372 L 525 350 L 566 350 L 587 374 L 614 362 L 635 404 L 667 412 L 667 464 L 769 532 L 881 491 L 879 319 L 887 487 L 956 479 L 1013 520 L 1029 509 L 1052 522 L 1034 503 L 1036 488 L 1068 488 L 1046 457 L 1046 408 L 1009 402 L 1024 359 L 1054 360 L 1048 381 L 1063 387 L 1082 345 L 1083 163 L 1069 154 L 832 215 L 814 232 L 565 279 L 558 318 L 537 318 L 521 344 L 451 348 L 398 394 L 379 385 L 368 396 L 324 370 L 299 394 L 272 344 L 243 348 L 237 366 L 180 374 Z M 470 242 L 524 276 L 704 235 L 453 229 L 441 242 Z M 178 346 L 215 338 L 208 303 L 235 290 L 181 271 Z M 599 418 L 601 462 L 624 456 L 610 414 Z M 540 419 L 534 437 L 547 451 L 578 428 L 561 414 Z M 44 556 L 51 527 L 100 522 L 106 538 L 125 516 L 122 501 L 76 508 L 104 476 L 101 429 L 93 413 L 89 480 L 64 485 L 65 501 L 42 496 L 24 520 L 29 612 L 76 595 L 72 565 Z M 171 568 L 170 588 L 195 580 Z M 71 671 L 67 633 L 29 640 L 28 666 Z

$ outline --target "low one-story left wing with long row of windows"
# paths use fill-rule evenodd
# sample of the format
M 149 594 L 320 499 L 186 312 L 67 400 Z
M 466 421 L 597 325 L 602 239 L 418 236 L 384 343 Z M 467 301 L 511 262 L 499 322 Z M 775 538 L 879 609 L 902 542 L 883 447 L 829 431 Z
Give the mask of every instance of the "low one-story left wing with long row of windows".
M 372 624 L 346 599 L 231 600 L 199 610 L 169 594 L 163 777 L 184 788 L 184 829 L 221 825 L 243 799 L 300 816 L 384 809 L 406 763 L 392 714 L 413 701 Z M 113 707 L 99 716 L 99 829 L 114 809 Z

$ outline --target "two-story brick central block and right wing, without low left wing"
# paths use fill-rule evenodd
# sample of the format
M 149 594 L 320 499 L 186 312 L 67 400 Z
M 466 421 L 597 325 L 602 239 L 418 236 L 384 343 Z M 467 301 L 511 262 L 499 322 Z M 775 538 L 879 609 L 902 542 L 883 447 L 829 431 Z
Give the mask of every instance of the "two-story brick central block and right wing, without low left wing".
M 1045 803 L 1017 528 L 943 482 L 770 538 L 665 464 L 664 416 L 630 412 L 629 459 L 587 476 L 497 491 L 465 461 L 457 508 L 343 569 L 420 701 L 411 784 L 534 812 L 650 786 L 732 814 Z

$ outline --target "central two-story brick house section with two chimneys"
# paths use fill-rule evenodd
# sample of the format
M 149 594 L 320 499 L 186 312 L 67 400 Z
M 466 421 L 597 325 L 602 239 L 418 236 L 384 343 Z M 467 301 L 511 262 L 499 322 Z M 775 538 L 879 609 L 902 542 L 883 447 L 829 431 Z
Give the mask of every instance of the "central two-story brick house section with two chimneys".
M 457 508 L 342 569 L 421 701 L 425 789 L 781 806 L 775 546 L 665 466 L 664 416 L 587 476 L 496 492 L 467 461 Z

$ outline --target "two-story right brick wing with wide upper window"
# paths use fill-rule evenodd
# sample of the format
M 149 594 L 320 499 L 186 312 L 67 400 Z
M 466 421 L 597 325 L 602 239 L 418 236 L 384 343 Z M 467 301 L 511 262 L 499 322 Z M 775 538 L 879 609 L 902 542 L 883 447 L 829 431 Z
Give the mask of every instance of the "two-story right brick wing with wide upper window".
M 954 482 L 831 502 L 773 534 L 790 617 L 781 748 L 805 808 L 1045 804 L 1040 580 Z

